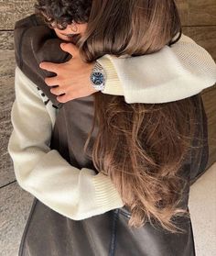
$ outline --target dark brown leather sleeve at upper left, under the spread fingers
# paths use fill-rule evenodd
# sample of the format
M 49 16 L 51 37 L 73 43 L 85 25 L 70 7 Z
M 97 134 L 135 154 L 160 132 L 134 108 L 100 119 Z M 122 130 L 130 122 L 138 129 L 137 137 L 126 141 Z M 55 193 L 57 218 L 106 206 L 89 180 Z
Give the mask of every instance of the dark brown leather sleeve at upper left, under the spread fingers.
M 37 37 L 35 36 L 37 35 Z M 56 63 L 70 60 L 70 54 L 59 47 L 62 40 L 58 39 L 52 29 L 48 28 L 36 15 L 26 17 L 16 22 L 15 32 L 16 64 L 27 77 L 49 97 L 53 105 L 60 107 L 57 95 L 50 93 L 45 77 L 55 73 L 39 68 L 42 61 Z

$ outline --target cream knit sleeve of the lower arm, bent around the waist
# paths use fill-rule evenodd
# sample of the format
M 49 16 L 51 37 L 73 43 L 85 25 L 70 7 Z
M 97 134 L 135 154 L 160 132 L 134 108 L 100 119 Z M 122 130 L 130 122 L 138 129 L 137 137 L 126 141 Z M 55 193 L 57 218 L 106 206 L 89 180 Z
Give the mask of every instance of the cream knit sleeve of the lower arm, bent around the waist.
M 16 100 L 12 107 L 13 132 L 8 152 L 18 184 L 59 214 L 75 220 L 124 206 L 110 178 L 81 170 L 50 150 L 52 121 L 32 83 L 16 68 Z

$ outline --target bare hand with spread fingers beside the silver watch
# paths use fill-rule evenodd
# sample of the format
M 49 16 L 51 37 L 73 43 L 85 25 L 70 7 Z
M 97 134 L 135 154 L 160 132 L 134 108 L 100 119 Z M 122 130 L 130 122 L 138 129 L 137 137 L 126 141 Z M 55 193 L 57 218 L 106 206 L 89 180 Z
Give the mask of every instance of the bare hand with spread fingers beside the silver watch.
M 81 60 L 79 49 L 71 43 L 61 43 L 60 48 L 72 55 L 70 61 L 65 63 L 41 62 L 39 67 L 49 72 L 55 72 L 54 77 L 47 77 L 48 86 L 59 85 L 51 88 L 53 95 L 60 95 L 57 100 L 66 103 L 70 100 L 85 97 L 96 93 L 90 82 L 90 74 L 94 62 L 86 63 Z M 65 95 L 62 95 L 65 94 Z

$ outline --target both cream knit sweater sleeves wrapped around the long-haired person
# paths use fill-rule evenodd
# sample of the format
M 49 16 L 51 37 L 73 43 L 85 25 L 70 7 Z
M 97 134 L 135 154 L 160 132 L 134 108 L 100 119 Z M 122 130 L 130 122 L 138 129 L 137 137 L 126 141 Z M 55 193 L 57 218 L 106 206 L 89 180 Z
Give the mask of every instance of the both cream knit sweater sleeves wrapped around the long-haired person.
M 104 94 L 124 95 L 127 103 L 157 103 L 200 93 L 216 82 L 216 65 L 206 50 L 183 36 L 172 48 L 142 57 L 99 60 L 108 74 Z M 57 110 L 16 68 L 16 101 L 8 151 L 16 180 L 59 214 L 75 220 L 124 206 L 109 177 L 65 161 L 49 143 Z

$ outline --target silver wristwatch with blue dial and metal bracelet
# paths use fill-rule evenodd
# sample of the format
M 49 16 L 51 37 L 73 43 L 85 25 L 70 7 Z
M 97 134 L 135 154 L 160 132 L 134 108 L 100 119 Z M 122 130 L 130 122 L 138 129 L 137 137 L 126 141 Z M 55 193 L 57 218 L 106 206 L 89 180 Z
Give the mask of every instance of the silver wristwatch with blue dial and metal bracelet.
M 92 69 L 90 81 L 95 90 L 103 91 L 106 82 L 106 73 L 103 70 L 103 66 L 97 61 Z

